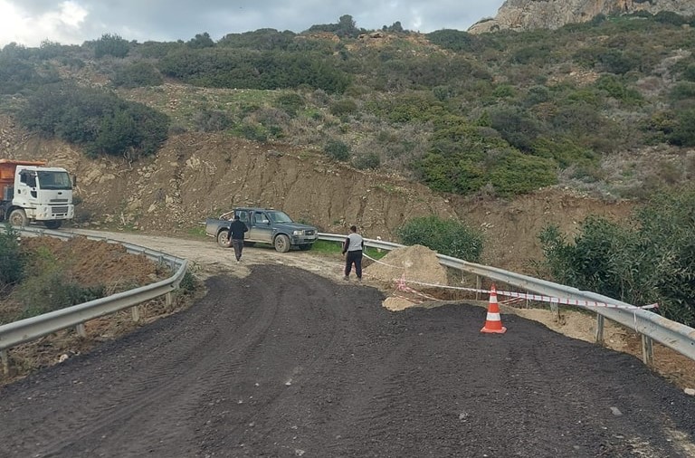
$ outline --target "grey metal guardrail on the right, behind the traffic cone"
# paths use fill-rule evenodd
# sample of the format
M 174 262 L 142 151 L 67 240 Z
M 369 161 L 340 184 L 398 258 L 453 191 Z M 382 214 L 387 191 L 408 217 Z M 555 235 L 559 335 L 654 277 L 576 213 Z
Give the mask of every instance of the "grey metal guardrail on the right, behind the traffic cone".
M 322 234 L 319 239 L 330 242 L 343 242 L 345 235 Z M 405 245 L 380 240 L 365 239 L 365 245 L 383 250 L 393 250 Z M 552 281 L 538 280 L 533 277 L 521 275 L 520 273 L 507 272 L 496 267 L 485 266 L 473 262 L 466 262 L 460 259 L 437 254 L 440 264 L 452 267 L 462 272 L 474 274 L 478 277 L 488 278 L 494 281 L 502 281 L 520 290 L 531 291 L 554 298 L 563 298 L 579 301 L 595 301 L 614 304 L 617 306 L 632 307 L 631 304 L 616 301 L 613 298 L 602 296 L 591 291 L 581 291 L 576 288 L 565 286 Z M 613 320 L 621 325 L 633 329 L 643 337 L 643 361 L 647 365 L 653 363 L 652 340 L 656 340 L 662 345 L 681 353 L 690 359 L 695 360 L 695 329 L 684 324 L 667 320 L 661 315 L 657 315 L 648 310 L 639 308 L 620 309 L 608 307 L 590 307 L 577 305 L 576 307 L 591 310 L 596 313 L 596 342 L 603 343 L 604 319 Z

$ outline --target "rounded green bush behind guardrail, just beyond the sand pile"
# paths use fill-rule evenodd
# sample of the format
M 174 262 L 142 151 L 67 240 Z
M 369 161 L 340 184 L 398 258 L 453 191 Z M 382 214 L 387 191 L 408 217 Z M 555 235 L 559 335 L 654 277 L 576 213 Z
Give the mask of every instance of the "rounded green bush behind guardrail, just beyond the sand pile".
M 396 229 L 396 235 L 405 245 L 423 245 L 463 261 L 481 260 L 483 234 L 453 219 L 435 215 L 413 218 Z

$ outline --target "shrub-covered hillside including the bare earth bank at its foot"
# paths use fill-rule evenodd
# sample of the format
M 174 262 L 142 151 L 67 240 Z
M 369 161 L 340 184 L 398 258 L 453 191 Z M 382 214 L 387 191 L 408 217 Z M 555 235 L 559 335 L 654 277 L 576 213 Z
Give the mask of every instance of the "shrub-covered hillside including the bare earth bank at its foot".
M 73 171 L 81 226 L 200 234 L 248 204 L 394 240 L 434 214 L 523 272 L 544 225 L 624 219 L 695 174 L 690 18 L 480 35 L 344 18 L 217 43 L 5 46 L 0 157 Z

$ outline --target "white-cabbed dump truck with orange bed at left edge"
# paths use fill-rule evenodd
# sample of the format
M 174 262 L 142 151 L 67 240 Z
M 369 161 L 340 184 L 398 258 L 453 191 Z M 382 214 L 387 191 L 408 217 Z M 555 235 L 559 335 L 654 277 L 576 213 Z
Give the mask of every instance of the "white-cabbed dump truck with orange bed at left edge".
M 67 170 L 45 161 L 0 159 L 0 221 L 57 229 L 75 215 L 72 185 Z

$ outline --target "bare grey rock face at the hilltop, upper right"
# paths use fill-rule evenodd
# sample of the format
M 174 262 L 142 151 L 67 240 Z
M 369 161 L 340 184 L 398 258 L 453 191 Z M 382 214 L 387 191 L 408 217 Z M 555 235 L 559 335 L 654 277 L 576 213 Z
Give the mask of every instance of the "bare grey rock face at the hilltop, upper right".
M 695 15 L 695 0 L 507 0 L 491 19 L 471 25 L 469 33 L 557 29 L 590 21 L 598 14 L 671 11 Z

